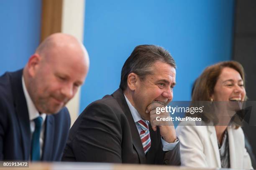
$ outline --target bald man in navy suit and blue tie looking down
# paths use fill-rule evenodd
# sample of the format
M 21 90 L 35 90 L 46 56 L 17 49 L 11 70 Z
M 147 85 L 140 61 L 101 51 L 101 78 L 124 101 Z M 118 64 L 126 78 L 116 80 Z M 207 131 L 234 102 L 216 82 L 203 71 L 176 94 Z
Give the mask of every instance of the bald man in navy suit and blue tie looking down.
M 0 160 L 59 161 L 67 141 L 67 102 L 83 84 L 89 57 L 81 42 L 55 33 L 23 70 L 0 77 Z

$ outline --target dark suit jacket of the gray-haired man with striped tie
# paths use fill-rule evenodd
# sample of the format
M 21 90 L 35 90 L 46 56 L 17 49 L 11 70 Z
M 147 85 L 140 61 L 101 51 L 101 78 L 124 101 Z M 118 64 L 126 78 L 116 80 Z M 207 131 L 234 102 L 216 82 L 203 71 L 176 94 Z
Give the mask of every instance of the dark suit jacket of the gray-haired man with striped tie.
M 179 143 L 162 150 L 159 129 L 150 127 L 151 148 L 144 154 L 141 138 L 123 91 L 92 102 L 70 129 L 62 160 L 180 165 Z

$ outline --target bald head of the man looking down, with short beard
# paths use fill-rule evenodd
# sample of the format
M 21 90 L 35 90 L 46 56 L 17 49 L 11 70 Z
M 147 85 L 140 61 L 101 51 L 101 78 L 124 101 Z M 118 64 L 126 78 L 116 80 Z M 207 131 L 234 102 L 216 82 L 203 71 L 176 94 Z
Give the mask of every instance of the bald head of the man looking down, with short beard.
M 58 112 L 83 84 L 89 69 L 84 45 L 74 36 L 55 33 L 36 49 L 23 70 L 25 84 L 39 112 Z

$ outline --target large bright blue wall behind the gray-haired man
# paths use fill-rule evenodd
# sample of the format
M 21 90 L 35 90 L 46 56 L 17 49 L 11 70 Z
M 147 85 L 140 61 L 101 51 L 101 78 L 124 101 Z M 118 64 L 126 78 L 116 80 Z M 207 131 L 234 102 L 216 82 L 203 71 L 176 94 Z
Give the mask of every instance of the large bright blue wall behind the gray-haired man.
M 233 13 L 233 0 L 86 0 L 84 45 L 91 65 L 80 111 L 118 88 L 123 63 L 141 44 L 169 50 L 177 62 L 174 100 L 190 100 L 202 70 L 231 59 Z

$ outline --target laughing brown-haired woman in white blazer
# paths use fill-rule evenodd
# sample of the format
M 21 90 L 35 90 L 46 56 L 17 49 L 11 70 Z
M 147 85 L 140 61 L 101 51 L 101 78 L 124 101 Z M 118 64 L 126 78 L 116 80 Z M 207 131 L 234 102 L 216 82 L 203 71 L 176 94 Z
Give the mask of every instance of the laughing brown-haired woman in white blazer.
M 240 63 L 219 62 L 207 67 L 196 80 L 192 101 L 216 101 L 227 106 L 225 103 L 229 101 L 246 100 L 244 82 L 244 71 Z M 212 111 L 218 114 L 212 114 Z M 231 120 L 232 116 L 226 116 L 225 124 L 220 118 L 228 113 L 230 110 L 227 107 L 218 110 L 211 107 L 209 112 L 192 116 L 201 117 L 206 124 L 212 125 L 193 126 L 195 124 L 188 123 L 177 127 L 182 165 L 252 169 L 250 156 L 245 149 L 243 130 Z

